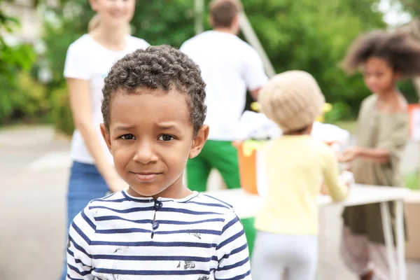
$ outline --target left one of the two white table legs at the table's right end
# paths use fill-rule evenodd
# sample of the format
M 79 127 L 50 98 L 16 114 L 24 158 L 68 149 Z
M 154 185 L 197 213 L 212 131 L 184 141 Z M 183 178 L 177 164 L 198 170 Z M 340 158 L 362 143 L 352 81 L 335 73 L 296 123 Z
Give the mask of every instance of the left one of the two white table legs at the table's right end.
M 391 215 L 389 214 L 388 202 L 381 202 L 381 218 L 382 226 L 384 229 L 386 255 L 388 257 L 389 263 L 389 272 L 391 274 L 391 279 L 397 280 L 397 278 L 395 277 L 395 255 L 391 228 Z

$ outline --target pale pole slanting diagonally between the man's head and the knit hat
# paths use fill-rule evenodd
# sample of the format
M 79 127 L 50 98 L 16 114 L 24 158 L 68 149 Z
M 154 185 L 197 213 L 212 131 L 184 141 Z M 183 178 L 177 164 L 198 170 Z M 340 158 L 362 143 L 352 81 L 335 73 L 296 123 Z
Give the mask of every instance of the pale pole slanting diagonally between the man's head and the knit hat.
M 246 17 L 245 12 L 239 14 L 239 25 L 241 26 L 241 31 L 244 34 L 246 41 L 248 41 L 248 43 L 250 43 L 253 48 L 255 48 L 255 50 L 257 50 L 257 52 L 260 54 L 262 63 L 265 67 L 265 71 L 267 72 L 267 76 L 274 76 L 276 74 L 276 70 L 274 70 L 274 67 L 270 62 L 267 53 L 265 52 L 264 48 L 262 48 L 260 40 L 258 40 L 258 36 L 255 34 L 255 31 L 253 30 L 251 23 Z

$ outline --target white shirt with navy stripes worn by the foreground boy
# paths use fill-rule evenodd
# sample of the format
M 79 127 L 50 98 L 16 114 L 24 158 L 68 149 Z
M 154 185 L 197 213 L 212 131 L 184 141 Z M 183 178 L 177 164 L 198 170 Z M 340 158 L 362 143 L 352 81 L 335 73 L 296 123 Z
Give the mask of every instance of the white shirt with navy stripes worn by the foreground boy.
M 92 200 L 71 223 L 67 266 L 67 279 L 251 279 L 239 218 L 197 192 Z

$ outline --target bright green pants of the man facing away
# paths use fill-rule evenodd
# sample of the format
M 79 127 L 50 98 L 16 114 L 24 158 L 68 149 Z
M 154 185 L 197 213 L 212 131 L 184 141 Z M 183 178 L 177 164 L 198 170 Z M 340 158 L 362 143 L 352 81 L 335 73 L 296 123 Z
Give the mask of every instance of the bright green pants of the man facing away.
M 230 141 L 207 140 L 202 152 L 187 162 L 187 185 L 190 190 L 204 192 L 211 169 L 217 169 L 228 188 L 240 188 L 237 149 Z M 241 219 L 248 241 L 249 255 L 255 239 L 254 219 Z

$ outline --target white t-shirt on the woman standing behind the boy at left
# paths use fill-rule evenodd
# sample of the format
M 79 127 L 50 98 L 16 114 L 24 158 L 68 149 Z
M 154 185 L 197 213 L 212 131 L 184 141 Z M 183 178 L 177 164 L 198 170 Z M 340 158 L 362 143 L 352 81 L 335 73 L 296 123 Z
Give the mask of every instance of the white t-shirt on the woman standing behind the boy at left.
M 85 34 L 71 43 L 69 50 L 67 50 L 66 63 L 64 65 L 64 77 L 89 80 L 90 82 L 92 124 L 111 164 L 113 163 L 112 156 L 106 147 L 99 128 L 100 124 L 103 123 L 101 101 L 104 78 L 118 59 L 139 48 L 147 48 L 149 45 L 143 39 L 133 36 L 127 36 L 126 41 L 127 46 L 125 50 L 114 51 L 94 41 L 89 34 Z M 73 139 L 71 140 L 71 158 L 78 162 L 94 164 L 94 159 L 90 155 L 82 134 L 78 130 L 74 131 Z

